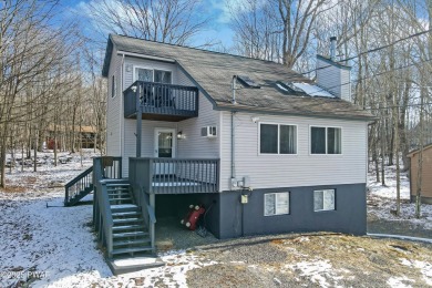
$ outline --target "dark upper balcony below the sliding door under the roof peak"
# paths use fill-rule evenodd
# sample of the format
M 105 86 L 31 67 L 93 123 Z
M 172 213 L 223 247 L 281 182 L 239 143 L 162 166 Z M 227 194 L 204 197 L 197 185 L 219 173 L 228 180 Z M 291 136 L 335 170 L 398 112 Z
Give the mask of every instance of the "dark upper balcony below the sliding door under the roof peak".
M 124 92 L 124 117 L 171 121 L 198 116 L 198 89 L 135 81 Z

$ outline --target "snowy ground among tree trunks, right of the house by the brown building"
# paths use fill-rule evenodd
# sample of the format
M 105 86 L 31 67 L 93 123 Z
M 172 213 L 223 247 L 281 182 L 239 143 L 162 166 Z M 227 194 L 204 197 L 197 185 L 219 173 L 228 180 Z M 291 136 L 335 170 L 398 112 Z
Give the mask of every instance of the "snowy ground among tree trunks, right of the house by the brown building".
M 380 219 L 393 222 L 408 222 L 423 229 L 432 230 L 432 205 L 421 205 L 421 217 L 415 217 L 415 204 L 410 203 L 410 181 L 408 173 L 401 173 L 400 184 L 401 214 L 395 216 L 397 208 L 397 176 L 395 166 L 385 166 L 385 186 L 381 182 L 376 182 L 374 172 L 368 175 L 368 213 L 373 214 Z

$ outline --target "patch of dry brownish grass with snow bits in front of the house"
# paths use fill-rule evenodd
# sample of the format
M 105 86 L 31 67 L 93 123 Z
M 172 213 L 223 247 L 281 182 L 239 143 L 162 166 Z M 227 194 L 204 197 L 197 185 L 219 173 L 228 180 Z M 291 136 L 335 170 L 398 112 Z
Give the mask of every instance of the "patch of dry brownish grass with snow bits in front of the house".
M 407 265 L 432 265 L 431 245 L 328 233 L 269 239 L 266 245 L 268 248 L 263 243 L 250 241 L 225 246 L 224 251 L 215 248 L 198 253 L 218 264 L 191 270 L 187 282 L 191 287 L 391 287 L 394 281 L 429 287 L 432 282 L 424 269 Z M 285 257 L 275 257 L 276 261 L 250 261 L 258 257 L 267 259 L 264 254 L 271 251 L 270 247 L 279 250 L 274 255 Z M 245 249 L 256 257 L 245 256 Z M 246 260 L 234 265 L 241 255 Z M 197 281 L 199 275 L 212 280 Z

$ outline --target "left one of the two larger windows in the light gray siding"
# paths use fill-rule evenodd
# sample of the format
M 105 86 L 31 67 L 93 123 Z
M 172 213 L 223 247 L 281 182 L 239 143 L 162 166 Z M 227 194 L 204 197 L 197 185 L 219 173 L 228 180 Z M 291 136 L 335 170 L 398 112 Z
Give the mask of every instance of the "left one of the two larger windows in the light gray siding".
M 297 126 L 259 124 L 260 154 L 297 154 Z

